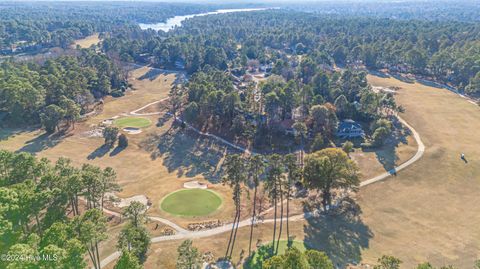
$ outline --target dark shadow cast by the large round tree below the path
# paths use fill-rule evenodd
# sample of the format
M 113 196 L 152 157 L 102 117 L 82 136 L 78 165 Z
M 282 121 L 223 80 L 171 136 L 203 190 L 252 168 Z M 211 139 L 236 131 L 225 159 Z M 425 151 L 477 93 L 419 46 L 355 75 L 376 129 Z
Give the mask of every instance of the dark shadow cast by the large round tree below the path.
M 361 217 L 361 209 L 345 199 L 334 213 L 307 219 L 305 245 L 324 251 L 339 268 L 361 261 L 361 250 L 368 248 L 373 233 Z

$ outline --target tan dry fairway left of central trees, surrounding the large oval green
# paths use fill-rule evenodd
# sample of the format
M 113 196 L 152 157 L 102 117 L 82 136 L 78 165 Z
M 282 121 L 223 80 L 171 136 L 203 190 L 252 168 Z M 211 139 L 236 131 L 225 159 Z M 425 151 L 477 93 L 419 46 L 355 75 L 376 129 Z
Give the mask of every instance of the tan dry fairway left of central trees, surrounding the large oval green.
M 175 75 L 171 73 L 158 73 L 146 67 L 136 69 L 131 73 L 130 80 L 135 90 L 127 92 L 121 98 L 107 98 L 102 113 L 76 124 L 75 130 L 68 137 L 52 139 L 45 137 L 42 130 L 32 129 L 0 140 L 0 148 L 32 152 L 52 161 L 64 156 L 78 166 L 83 163 L 110 166 L 117 172 L 117 180 L 123 187 L 120 197 L 145 194 L 153 203 L 150 214 L 171 218 L 185 226 L 197 222 L 197 218 L 170 216 L 159 209 L 159 203 L 168 193 L 183 188 L 185 181 L 196 179 L 207 182 L 209 175 L 215 172 L 214 169 L 222 161 L 226 153 L 225 147 L 170 129 L 171 119 L 156 124 L 161 115 L 148 116 L 155 124 L 145 128 L 141 134 L 128 135 L 129 146 L 121 152 L 105 150 L 102 148 L 102 138 L 88 137 L 85 134 L 85 131 L 94 129 L 105 119 L 126 115 L 167 97 L 174 80 Z M 15 131 L 4 130 L 1 135 L 6 137 L 8 132 Z M 209 185 L 221 194 L 224 203 L 207 219 L 230 219 L 233 203 L 229 188 L 221 184 Z

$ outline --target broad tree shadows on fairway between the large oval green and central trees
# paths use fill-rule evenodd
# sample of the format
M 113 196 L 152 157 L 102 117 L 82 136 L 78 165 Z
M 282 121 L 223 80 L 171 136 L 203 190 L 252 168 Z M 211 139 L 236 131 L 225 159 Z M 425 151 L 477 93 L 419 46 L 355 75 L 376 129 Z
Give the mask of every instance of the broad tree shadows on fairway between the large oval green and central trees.
M 152 159 L 163 158 L 169 172 L 177 171 L 179 177 L 203 175 L 211 182 L 220 181 L 221 163 L 229 150 L 178 126 L 163 134 L 150 134 L 140 146 Z

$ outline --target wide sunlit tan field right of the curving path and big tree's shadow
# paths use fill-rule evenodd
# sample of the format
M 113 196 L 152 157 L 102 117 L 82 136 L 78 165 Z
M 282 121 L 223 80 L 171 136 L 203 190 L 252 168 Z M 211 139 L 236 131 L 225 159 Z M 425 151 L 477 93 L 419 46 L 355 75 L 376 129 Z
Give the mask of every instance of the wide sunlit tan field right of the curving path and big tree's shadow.
M 364 259 L 386 253 L 407 268 L 425 260 L 472 268 L 480 255 L 480 108 L 445 89 L 368 79 L 402 88 L 402 117 L 420 133 L 426 152 L 396 178 L 361 190 L 363 219 L 374 234 Z

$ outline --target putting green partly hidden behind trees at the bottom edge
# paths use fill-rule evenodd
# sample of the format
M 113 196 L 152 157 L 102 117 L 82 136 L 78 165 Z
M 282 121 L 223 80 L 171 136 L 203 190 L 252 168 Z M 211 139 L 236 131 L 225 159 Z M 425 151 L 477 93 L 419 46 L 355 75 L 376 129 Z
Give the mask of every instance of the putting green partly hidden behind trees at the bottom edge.
M 275 247 L 276 245 L 277 245 L 277 242 L 275 242 Z M 303 241 L 292 241 L 292 247 L 297 248 L 301 252 L 304 252 L 305 250 L 309 249 L 307 246 L 305 246 L 305 243 L 303 243 Z M 259 247 L 255 252 L 253 252 L 253 256 L 251 256 L 251 259 L 247 260 L 244 268 L 245 269 L 262 268 L 262 263 L 268 258 L 270 258 L 271 256 L 271 252 L 270 252 L 271 248 L 272 248 L 271 242 Z M 288 248 L 288 241 L 280 240 L 280 245 L 278 246 L 278 255 L 285 254 L 285 251 L 287 250 L 287 248 Z

